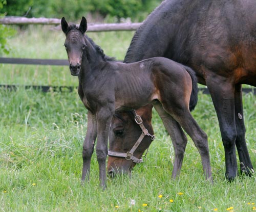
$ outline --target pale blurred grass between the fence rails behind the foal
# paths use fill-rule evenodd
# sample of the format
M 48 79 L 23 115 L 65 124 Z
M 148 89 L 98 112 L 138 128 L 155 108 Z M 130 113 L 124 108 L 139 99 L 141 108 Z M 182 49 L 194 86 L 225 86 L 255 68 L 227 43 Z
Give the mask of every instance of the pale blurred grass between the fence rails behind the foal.
M 65 35 L 53 26 L 30 25 L 27 30 L 16 28 L 17 34 L 9 39 L 10 58 L 67 59 L 63 47 Z M 105 54 L 123 60 L 134 32 L 88 33 Z M 75 77 L 65 66 L 0 64 L 0 84 L 12 85 L 77 85 Z

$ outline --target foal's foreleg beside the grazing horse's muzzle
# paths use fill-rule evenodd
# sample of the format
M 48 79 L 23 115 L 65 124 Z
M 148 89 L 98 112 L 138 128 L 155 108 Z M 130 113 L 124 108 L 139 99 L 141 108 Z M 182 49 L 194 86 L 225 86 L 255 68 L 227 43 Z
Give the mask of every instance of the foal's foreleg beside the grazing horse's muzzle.
M 108 139 L 110 124 L 114 112 L 107 109 L 101 109 L 97 113 L 98 138 L 96 145 L 97 161 L 99 164 L 99 180 L 100 186 L 106 187 L 106 156 L 108 155 Z

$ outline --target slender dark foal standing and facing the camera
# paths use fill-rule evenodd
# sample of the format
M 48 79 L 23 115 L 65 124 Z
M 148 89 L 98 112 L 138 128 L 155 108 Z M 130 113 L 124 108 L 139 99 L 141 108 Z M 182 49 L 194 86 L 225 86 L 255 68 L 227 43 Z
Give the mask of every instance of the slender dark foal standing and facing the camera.
M 166 58 L 152 58 L 132 64 L 113 61 L 84 35 L 87 30 L 84 17 L 78 28 L 62 18 L 61 28 L 66 34 L 64 45 L 70 71 L 78 76 L 78 93 L 88 109 L 82 180 L 89 180 L 97 137 L 99 178 L 101 186 L 105 187 L 109 130 L 115 111 L 138 109 L 150 102 L 162 118 L 177 153 L 173 177 L 179 173 L 187 143 L 181 129 L 183 127 L 199 150 L 206 178 L 211 178 L 207 136 L 189 112 L 190 99 L 194 101 L 194 107 L 197 102 L 197 81 L 193 70 Z

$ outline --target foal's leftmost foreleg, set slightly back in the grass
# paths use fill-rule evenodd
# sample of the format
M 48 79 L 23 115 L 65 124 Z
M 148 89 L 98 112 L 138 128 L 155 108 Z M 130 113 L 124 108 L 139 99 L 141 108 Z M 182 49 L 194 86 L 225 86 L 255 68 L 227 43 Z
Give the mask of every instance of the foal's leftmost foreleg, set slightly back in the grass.
M 82 181 L 86 178 L 89 180 L 90 178 L 90 166 L 91 166 L 91 158 L 93 154 L 94 144 L 97 137 L 97 120 L 96 116 L 93 115 L 90 111 L 88 111 L 88 121 L 87 121 L 87 133 L 86 138 L 83 142 L 82 147 L 82 158 L 83 158 L 83 166 L 82 166 Z

